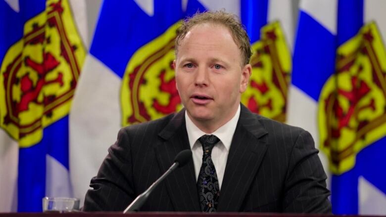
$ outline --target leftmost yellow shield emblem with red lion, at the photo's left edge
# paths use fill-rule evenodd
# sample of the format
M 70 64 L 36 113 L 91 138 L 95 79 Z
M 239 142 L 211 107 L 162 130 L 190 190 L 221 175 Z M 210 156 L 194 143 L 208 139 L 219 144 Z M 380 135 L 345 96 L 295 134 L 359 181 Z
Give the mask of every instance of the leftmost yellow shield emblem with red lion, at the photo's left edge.
M 0 127 L 21 147 L 39 142 L 43 128 L 68 114 L 85 58 L 68 2 L 46 5 L 24 24 L 0 68 Z

